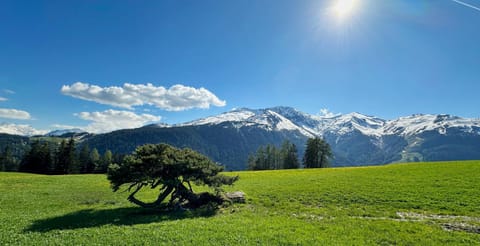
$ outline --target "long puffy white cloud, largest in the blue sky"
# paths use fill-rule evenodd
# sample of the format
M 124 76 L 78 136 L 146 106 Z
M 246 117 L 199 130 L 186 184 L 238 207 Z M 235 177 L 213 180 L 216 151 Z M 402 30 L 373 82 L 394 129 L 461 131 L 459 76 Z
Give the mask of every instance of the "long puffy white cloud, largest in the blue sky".
M 170 88 L 153 84 L 125 83 L 122 87 L 100 87 L 76 82 L 62 86 L 61 92 L 75 98 L 93 101 L 115 107 L 132 109 L 134 106 L 153 105 L 168 111 L 182 111 L 192 108 L 222 107 L 226 102 L 205 88 L 174 85 Z

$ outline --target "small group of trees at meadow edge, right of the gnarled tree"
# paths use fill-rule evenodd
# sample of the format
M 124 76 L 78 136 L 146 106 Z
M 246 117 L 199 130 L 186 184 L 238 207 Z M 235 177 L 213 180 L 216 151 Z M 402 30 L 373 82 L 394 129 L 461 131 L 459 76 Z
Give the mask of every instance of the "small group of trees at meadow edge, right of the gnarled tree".
M 302 158 L 304 168 L 324 168 L 329 166 L 333 157 L 330 145 L 319 137 L 309 138 Z M 255 154 L 250 154 L 247 161 L 249 170 L 274 170 L 300 168 L 297 147 L 285 140 L 281 147 L 267 144 L 260 146 Z

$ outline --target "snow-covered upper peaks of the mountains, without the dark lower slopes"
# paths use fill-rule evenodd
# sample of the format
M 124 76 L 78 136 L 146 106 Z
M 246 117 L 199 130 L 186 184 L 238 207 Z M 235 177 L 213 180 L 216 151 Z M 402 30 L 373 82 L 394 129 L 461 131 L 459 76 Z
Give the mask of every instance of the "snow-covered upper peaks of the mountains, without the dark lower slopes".
M 274 107 L 252 110 L 235 109 L 217 116 L 211 116 L 177 126 L 218 125 L 234 122 L 236 127 L 258 125 L 268 130 L 300 131 L 305 136 L 337 135 L 358 131 L 367 136 L 385 135 L 411 136 L 425 131 L 446 133 L 447 128 L 457 128 L 468 133 L 480 134 L 480 120 L 466 119 L 451 115 L 416 114 L 395 120 L 384 120 L 360 113 L 335 116 L 316 116 L 290 107 Z

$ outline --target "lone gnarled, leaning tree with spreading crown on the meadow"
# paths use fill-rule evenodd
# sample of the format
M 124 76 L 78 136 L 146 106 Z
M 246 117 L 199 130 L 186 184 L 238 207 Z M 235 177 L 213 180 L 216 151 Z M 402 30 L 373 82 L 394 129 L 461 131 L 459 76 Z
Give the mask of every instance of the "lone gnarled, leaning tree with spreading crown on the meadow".
M 220 174 L 223 167 L 208 157 L 191 149 L 177 149 L 167 144 L 147 144 L 138 147 L 123 162 L 110 165 L 108 179 L 113 191 L 128 185 L 131 192 L 128 200 L 142 207 L 174 207 L 195 208 L 210 202 L 221 203 L 222 185 L 232 185 L 238 176 L 229 177 Z M 192 183 L 207 185 L 216 194 L 193 192 Z M 142 188 L 160 187 L 160 194 L 153 202 L 143 202 L 135 197 Z M 163 201 L 169 197 L 168 203 Z

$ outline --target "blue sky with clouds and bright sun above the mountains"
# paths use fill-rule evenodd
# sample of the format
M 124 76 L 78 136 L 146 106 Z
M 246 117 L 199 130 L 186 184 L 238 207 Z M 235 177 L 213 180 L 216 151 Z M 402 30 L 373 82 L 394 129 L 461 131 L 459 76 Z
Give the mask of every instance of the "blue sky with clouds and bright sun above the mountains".
M 340 17 L 341 1 L 2 0 L 0 123 L 101 132 L 279 105 L 480 117 L 479 0 L 343 0 Z

